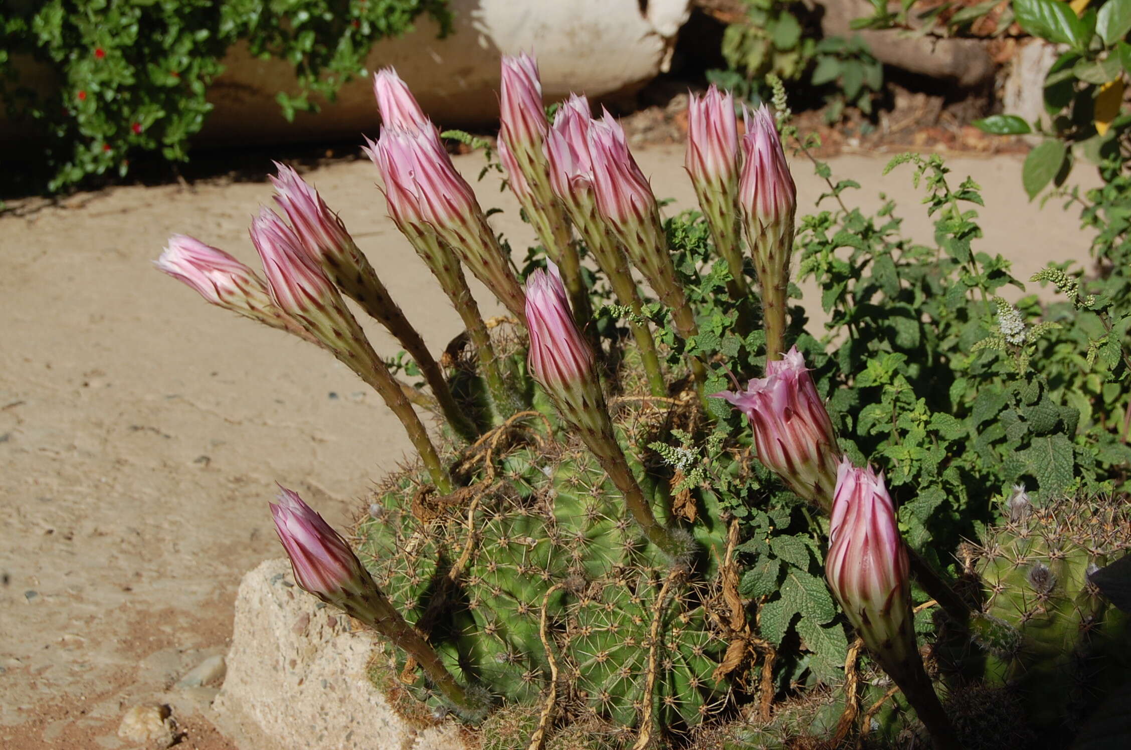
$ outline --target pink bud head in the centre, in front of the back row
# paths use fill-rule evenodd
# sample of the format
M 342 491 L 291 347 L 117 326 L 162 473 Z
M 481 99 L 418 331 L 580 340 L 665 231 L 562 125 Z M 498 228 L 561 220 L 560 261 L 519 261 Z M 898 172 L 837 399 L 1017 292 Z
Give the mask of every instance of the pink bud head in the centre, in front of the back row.
M 551 395 L 563 386 L 595 379 L 593 350 L 570 311 L 558 268 L 541 268 L 526 279 L 526 320 L 530 331 L 530 372 Z

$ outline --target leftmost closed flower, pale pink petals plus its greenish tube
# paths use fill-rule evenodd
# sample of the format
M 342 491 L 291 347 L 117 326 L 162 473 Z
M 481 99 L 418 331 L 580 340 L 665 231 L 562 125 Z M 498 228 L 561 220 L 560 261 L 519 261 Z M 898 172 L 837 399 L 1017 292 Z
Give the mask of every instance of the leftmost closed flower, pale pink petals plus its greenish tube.
M 313 340 L 297 320 L 275 304 L 256 271 L 218 248 L 174 234 L 154 265 L 211 304 Z

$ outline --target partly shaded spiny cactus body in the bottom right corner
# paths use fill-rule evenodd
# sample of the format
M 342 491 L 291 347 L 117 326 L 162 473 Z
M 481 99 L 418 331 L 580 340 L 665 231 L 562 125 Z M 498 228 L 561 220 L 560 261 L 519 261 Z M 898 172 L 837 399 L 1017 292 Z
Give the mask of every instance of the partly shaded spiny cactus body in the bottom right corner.
M 1131 670 L 1126 615 L 1088 581 L 1131 546 L 1119 500 L 1012 509 L 972 567 L 984 589 L 970 623 L 988 687 L 1015 691 L 1035 726 L 1071 726 Z

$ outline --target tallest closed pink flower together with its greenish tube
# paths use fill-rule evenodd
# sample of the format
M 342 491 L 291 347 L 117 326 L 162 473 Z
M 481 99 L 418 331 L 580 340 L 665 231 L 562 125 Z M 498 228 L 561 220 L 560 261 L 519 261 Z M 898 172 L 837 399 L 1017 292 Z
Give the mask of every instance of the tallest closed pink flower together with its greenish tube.
M 558 264 L 582 322 L 589 319 L 589 290 L 569 221 L 550 187 L 544 144 L 550 123 L 542 103 L 538 63 L 530 55 L 503 55 L 499 88 L 499 161 L 546 255 Z

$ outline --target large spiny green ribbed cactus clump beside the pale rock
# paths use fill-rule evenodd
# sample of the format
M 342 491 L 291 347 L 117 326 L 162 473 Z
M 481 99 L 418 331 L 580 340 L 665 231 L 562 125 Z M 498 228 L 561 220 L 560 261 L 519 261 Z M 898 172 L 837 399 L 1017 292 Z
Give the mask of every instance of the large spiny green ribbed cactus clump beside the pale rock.
M 633 469 L 645 472 L 639 463 Z M 441 500 L 425 509 L 426 521 L 405 479 L 357 526 L 362 560 L 457 678 L 504 705 L 537 705 L 550 679 L 546 638 L 571 704 L 593 721 L 638 726 L 658 617 L 651 721 L 683 731 L 726 706 L 729 684 L 711 676 L 727 644 L 703 610 L 710 584 L 690 572 L 657 609 L 668 566 L 587 451 L 523 447 L 497 462 L 495 479 L 474 509 Z M 665 481 L 641 484 L 657 506 L 666 501 Z M 713 520 L 697 535 L 716 548 L 703 560 L 725 546 L 725 524 Z M 715 575 L 715 564 L 702 567 Z M 396 663 L 406 687 L 437 705 L 406 666 Z

